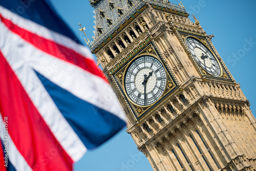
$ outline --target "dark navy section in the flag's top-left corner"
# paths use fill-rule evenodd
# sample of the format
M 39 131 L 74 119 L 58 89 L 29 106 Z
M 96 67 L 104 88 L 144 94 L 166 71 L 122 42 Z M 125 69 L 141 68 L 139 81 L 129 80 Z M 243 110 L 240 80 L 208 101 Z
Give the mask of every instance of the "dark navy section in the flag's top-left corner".
M 82 44 L 48 0 L 1 0 L 0 5 L 41 26 L 70 37 L 78 44 Z

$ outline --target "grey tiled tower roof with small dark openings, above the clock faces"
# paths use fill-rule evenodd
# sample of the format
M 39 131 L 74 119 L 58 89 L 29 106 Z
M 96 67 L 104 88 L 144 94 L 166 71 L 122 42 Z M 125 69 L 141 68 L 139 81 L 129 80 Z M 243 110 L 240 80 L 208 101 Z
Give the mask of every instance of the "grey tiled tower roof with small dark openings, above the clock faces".
M 160 0 L 89 0 L 92 7 L 95 8 L 95 36 L 93 37 L 90 49 L 94 51 L 104 39 L 111 37 L 125 20 L 133 17 L 137 10 L 141 9 L 146 3 L 161 8 L 168 8 L 181 13 L 187 13 L 185 8 Z M 97 28 L 102 28 L 98 32 Z

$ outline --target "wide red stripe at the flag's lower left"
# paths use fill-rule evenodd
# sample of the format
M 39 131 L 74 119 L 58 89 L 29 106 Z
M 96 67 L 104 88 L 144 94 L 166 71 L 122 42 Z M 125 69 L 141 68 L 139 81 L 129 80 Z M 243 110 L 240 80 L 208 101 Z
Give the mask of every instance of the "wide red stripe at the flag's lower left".
M 0 112 L 14 144 L 33 170 L 72 170 L 60 146 L 0 51 Z

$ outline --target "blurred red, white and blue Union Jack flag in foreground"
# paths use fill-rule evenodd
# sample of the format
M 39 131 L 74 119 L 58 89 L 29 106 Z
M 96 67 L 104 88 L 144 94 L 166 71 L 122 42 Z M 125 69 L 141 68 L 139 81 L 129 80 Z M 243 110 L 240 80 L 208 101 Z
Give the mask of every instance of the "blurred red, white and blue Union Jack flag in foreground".
M 72 170 L 125 126 L 116 96 L 48 0 L 0 0 L 0 19 L 0 169 Z

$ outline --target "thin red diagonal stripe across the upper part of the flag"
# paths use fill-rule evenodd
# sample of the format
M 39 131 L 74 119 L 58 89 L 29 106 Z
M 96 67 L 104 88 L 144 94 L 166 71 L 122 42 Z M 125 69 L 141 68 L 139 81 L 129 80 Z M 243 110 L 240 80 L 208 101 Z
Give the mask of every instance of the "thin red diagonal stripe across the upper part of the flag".
M 46 38 L 40 37 L 34 33 L 31 33 L 23 28 L 20 28 L 13 24 L 11 20 L 4 18 L 0 14 L 1 21 L 6 25 L 6 27 L 12 32 L 18 34 L 20 37 L 30 42 L 33 46 L 44 51 L 50 55 L 53 55 L 59 59 L 65 60 L 67 62 L 73 63 L 74 65 L 86 70 L 94 75 L 97 75 L 104 80 L 105 77 L 101 71 L 95 65 L 95 62 L 89 58 L 83 57 L 79 53 L 69 49 L 65 46 L 59 45 L 54 41 L 48 40 Z

